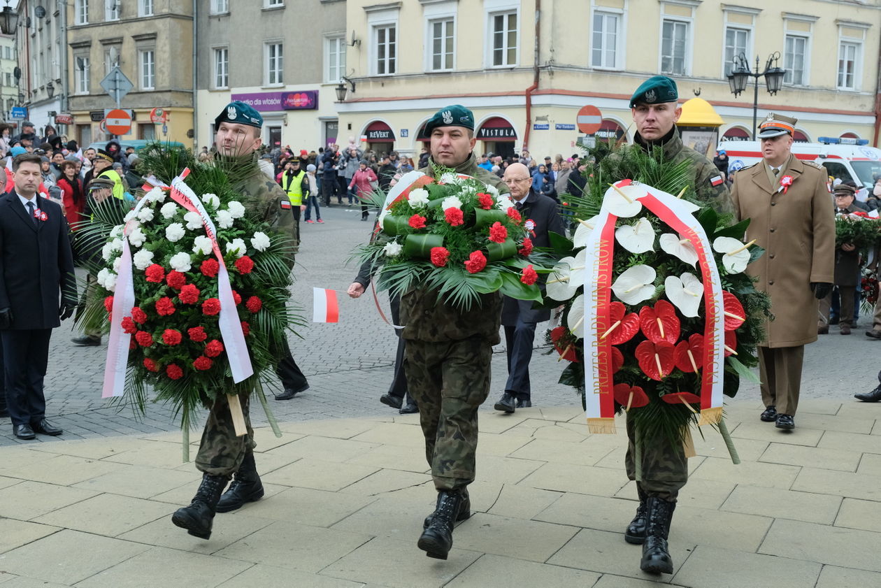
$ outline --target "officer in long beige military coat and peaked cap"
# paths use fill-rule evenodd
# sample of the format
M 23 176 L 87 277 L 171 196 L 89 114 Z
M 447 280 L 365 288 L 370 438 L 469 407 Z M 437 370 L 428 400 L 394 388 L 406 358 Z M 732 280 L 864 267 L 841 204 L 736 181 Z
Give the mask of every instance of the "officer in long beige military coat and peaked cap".
M 759 346 L 762 421 L 784 430 L 802 382 L 804 345 L 817 340 L 818 299 L 832 290 L 835 220 L 822 167 L 790 152 L 796 119 L 768 115 L 759 125 L 763 160 L 734 176 L 731 200 L 738 219 L 751 219 L 747 241 L 766 249 L 746 268 L 756 288 L 771 296 L 774 320 Z

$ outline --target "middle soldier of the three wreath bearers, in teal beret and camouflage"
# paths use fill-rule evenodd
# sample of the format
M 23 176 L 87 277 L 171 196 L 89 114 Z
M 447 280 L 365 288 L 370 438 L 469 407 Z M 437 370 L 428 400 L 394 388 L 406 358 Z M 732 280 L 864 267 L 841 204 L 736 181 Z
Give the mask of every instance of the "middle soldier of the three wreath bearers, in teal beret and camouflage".
M 455 169 L 507 192 L 497 175 L 478 167 L 472 150 L 474 115 L 468 108 L 442 108 L 426 123 L 431 138 L 428 166 Z M 470 517 L 467 487 L 474 480 L 478 447 L 478 407 L 490 390 L 492 346 L 499 343 L 501 296 L 483 294 L 479 304 L 457 309 L 437 292 L 415 287 L 401 298 L 401 336 L 407 344 L 403 368 L 419 406 L 426 437 L 426 460 L 438 492 L 437 508 L 426 518 L 418 547 L 429 557 L 447 559 L 453 524 Z

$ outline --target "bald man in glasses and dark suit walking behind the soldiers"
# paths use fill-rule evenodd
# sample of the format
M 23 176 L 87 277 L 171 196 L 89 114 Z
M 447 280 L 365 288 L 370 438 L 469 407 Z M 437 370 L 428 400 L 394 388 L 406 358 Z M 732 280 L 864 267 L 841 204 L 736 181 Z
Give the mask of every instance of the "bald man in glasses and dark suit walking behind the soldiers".
M 532 233 L 534 247 L 551 245 L 549 231 L 565 234 L 557 203 L 551 197 L 532 190 L 529 168 L 512 163 L 505 170 L 503 181 L 511 190 L 511 200 L 520 211 Z M 551 318 L 550 310 L 533 310 L 531 301 L 505 296 L 501 308 L 501 324 L 505 327 L 507 350 L 507 383 L 505 393 L 495 404 L 497 411 L 513 413 L 515 408 L 532 406 L 529 388 L 529 360 L 536 338 L 536 325 Z

